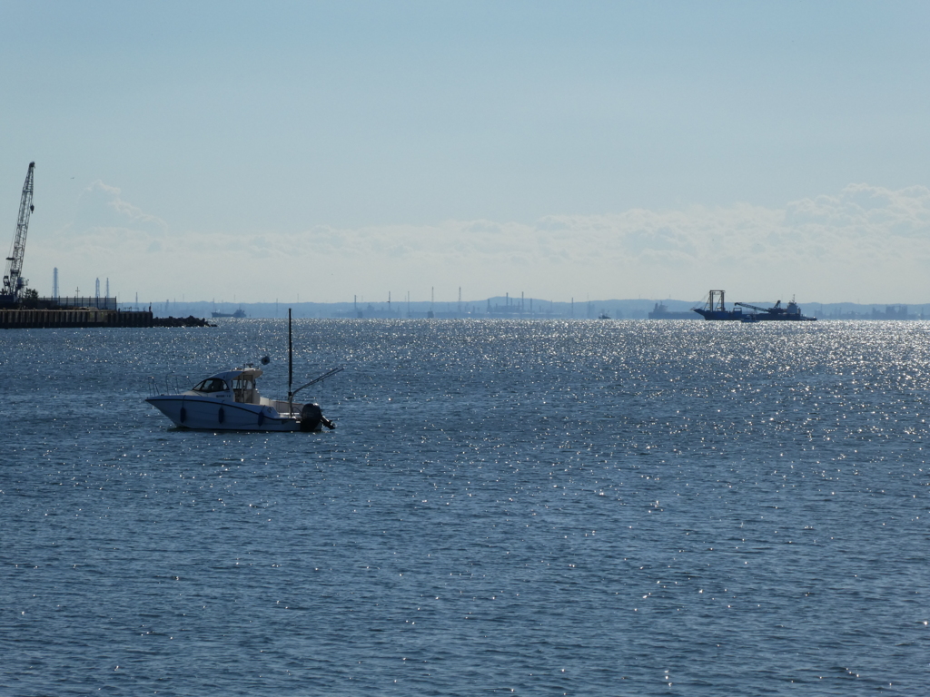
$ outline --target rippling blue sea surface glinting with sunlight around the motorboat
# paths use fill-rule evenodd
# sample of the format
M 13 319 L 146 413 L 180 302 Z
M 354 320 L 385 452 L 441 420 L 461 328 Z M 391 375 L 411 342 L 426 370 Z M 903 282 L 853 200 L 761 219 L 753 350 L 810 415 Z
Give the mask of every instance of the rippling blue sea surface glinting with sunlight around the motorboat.
M 299 321 L 230 434 L 148 378 L 285 322 L 8 330 L 0 692 L 926 693 L 928 331 Z

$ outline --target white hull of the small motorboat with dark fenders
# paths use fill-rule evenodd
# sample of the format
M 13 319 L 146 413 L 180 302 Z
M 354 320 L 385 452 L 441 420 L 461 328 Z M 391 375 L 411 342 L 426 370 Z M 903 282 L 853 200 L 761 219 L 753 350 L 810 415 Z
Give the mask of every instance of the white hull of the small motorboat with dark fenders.
M 158 395 L 147 400 L 180 428 L 211 431 L 299 431 L 300 421 L 263 404 L 194 395 Z M 313 430 L 320 430 L 317 426 Z

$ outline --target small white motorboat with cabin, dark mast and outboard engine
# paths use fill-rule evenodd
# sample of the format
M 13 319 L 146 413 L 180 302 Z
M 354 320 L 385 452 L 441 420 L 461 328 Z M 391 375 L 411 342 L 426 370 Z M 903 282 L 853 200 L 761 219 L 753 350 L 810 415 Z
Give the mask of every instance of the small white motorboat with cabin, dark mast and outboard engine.
M 146 399 L 177 427 L 232 431 L 319 431 L 336 425 L 323 415 L 319 404 L 294 401 L 301 389 L 309 388 L 342 368 L 333 368 L 306 385 L 292 389 L 293 352 L 290 338 L 290 310 L 287 312 L 287 399 L 272 400 L 262 397 L 256 379 L 260 368 L 244 368 L 210 375 L 193 388 L 169 390 L 166 394 L 153 394 Z M 263 359 L 267 362 L 267 359 Z

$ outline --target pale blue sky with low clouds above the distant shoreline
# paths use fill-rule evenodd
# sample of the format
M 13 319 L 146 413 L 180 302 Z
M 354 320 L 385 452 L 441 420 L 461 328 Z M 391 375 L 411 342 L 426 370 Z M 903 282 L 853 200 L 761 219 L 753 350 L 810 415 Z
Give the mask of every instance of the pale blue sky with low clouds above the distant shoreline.
M 140 302 L 926 303 L 925 2 L 0 0 L 0 245 Z

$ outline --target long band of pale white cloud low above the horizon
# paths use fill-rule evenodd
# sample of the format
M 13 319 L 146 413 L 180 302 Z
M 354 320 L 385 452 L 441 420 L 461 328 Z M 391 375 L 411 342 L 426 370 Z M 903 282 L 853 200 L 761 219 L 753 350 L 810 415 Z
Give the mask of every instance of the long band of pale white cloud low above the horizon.
M 41 260 L 36 259 L 41 256 Z M 740 296 L 923 302 L 930 271 L 930 190 L 853 184 L 783 208 L 750 204 L 534 224 L 447 220 L 431 226 L 314 227 L 250 235 L 174 230 L 95 182 L 54 248 L 31 261 L 119 280 L 160 298 L 296 296 L 326 301 L 430 288 L 470 298 L 525 291 L 567 299 Z M 115 267 L 115 269 L 114 269 Z M 74 270 L 73 272 L 77 272 Z M 84 282 L 87 283 L 87 282 Z

